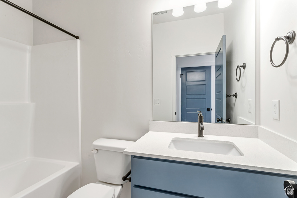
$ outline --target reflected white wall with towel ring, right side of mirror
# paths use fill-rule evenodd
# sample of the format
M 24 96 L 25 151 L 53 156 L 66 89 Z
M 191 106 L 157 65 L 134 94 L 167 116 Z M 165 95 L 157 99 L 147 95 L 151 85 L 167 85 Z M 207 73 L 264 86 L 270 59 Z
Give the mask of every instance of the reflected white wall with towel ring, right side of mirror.
M 234 9 L 224 13 L 226 94 L 237 92 L 238 97 L 226 98 L 226 118 L 235 124 L 238 117 L 248 121 L 239 124 L 255 124 L 255 1 L 232 1 L 230 6 Z M 247 67 L 241 69 L 237 82 L 236 66 L 244 62 Z M 248 99 L 252 99 L 252 113 L 248 111 Z

